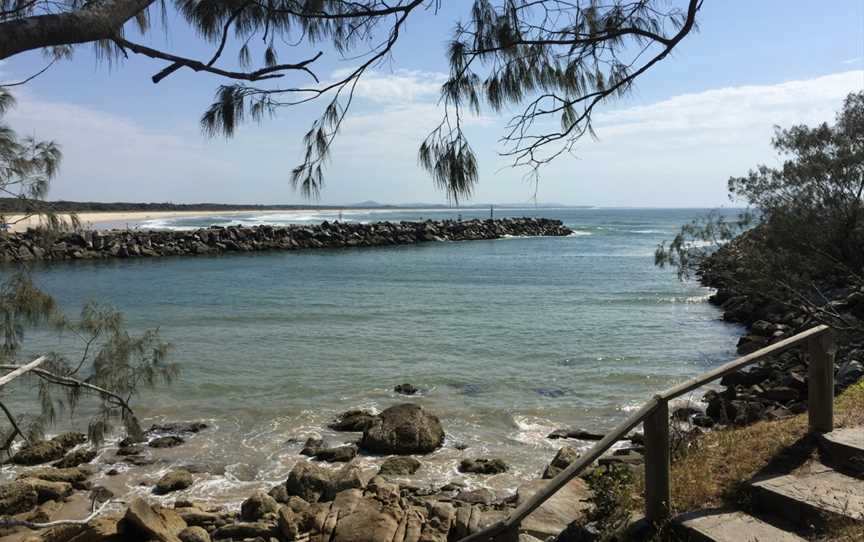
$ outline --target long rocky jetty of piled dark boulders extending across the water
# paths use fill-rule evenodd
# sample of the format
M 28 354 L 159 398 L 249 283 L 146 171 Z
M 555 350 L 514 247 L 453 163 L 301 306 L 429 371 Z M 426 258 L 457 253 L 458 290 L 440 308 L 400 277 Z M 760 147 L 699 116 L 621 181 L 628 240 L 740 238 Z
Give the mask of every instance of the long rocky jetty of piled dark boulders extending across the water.
M 504 218 L 315 226 L 211 226 L 197 230 L 109 230 L 0 235 L 0 261 L 97 260 L 268 250 L 409 245 L 433 241 L 473 241 L 505 236 L 566 236 L 560 220 Z

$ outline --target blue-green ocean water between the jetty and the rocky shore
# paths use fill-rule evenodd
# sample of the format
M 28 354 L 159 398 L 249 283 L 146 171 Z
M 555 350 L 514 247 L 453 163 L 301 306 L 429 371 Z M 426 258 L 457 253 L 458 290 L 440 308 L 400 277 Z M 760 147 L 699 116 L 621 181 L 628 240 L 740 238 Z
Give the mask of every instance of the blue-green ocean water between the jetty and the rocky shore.
M 415 485 L 461 480 L 509 491 L 535 477 L 560 427 L 603 431 L 650 394 L 734 357 L 739 329 L 709 290 L 656 269 L 653 252 L 700 209 L 522 209 L 558 218 L 563 238 L 427 243 L 39 265 L 37 283 L 74 312 L 90 299 L 133 330 L 159 327 L 181 378 L 134 404 L 157 420 L 212 425 L 124 479 L 129 491 L 173 464 L 206 465 L 182 495 L 234 503 L 287 476 L 302 440 L 341 411 L 414 401 L 437 414 L 443 449 Z M 486 211 L 346 211 L 343 220 L 487 217 Z M 326 213 L 159 219 L 140 227 L 314 223 Z M 135 225 L 133 225 L 134 227 Z M 64 348 L 40 335 L 28 353 Z M 410 399 L 392 389 L 410 382 Z M 698 399 L 698 396 L 694 396 Z M 24 399 L 20 407 L 26 407 Z M 61 422 L 62 423 L 65 422 Z M 590 443 L 572 442 L 587 447 Z M 465 449 L 461 449 L 465 447 Z M 105 452 L 103 461 L 112 454 Z M 494 477 L 465 477 L 462 458 L 500 457 Z M 370 467 L 381 457 L 361 457 Z M 8 474 L 8 473 L 7 473 Z

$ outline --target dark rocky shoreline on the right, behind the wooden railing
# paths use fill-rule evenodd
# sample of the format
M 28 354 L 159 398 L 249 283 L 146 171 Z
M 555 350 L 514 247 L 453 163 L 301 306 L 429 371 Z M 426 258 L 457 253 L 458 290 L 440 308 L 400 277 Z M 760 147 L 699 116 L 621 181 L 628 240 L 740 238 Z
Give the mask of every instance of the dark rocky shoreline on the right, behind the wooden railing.
M 709 301 L 723 311 L 723 319 L 744 327 L 737 345 L 741 355 L 820 323 L 812 314 L 797 308 L 794 300 L 784 302 L 778 295 L 754 295 L 743 281 L 735 279 L 742 265 L 739 245 L 758 242 L 753 232 L 745 233 L 708 257 L 699 272 L 701 283 L 716 289 Z M 864 318 L 864 292 L 849 287 L 849 281 L 844 279 L 830 277 L 819 285 L 823 303 L 847 321 L 859 321 Z M 834 363 L 836 395 L 864 377 L 864 335 L 849 331 L 838 337 Z M 707 404 L 704 412 L 686 407 L 677 412 L 676 419 L 710 428 L 742 426 L 806 412 L 807 372 L 801 349 L 783 352 L 748 370 L 727 375 L 720 381 L 721 391 L 712 390 L 703 397 Z

